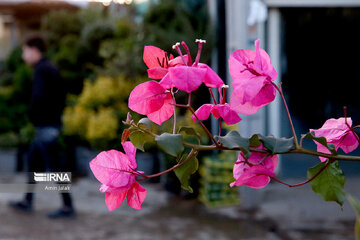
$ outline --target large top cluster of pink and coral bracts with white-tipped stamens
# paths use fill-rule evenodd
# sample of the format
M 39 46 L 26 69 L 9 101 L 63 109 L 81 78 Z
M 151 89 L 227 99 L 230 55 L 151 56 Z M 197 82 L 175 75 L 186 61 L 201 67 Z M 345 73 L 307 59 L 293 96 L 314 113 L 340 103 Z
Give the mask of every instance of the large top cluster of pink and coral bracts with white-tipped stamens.
M 161 80 L 145 82 L 134 88 L 129 97 L 131 110 L 146 115 L 150 120 L 161 125 L 174 114 L 174 88 L 191 93 L 202 83 L 209 88 L 218 89 L 224 85 L 221 78 L 208 65 L 199 62 L 205 41 L 196 40 L 196 42 L 199 50 L 194 63 L 185 42 L 173 46 L 179 56 L 174 58 L 170 55 L 170 59 L 160 48 L 154 46 L 144 48 L 143 59 L 149 68 L 149 78 Z M 186 55 L 182 54 L 180 45 L 184 47 Z

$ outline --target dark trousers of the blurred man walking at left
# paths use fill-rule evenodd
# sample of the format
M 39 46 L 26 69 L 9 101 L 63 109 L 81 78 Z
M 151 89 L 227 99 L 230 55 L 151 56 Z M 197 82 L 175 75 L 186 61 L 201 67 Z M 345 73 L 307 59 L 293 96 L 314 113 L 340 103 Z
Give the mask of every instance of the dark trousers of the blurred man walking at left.
M 64 171 L 64 164 L 60 157 L 60 146 L 58 138 L 59 126 L 35 127 L 36 133 L 28 152 L 29 172 L 61 172 Z M 31 175 L 31 176 L 30 176 Z M 32 174 L 29 175 L 29 183 L 34 183 Z M 72 208 L 70 193 L 61 193 L 63 204 Z M 28 192 L 25 200 L 32 203 L 34 194 Z

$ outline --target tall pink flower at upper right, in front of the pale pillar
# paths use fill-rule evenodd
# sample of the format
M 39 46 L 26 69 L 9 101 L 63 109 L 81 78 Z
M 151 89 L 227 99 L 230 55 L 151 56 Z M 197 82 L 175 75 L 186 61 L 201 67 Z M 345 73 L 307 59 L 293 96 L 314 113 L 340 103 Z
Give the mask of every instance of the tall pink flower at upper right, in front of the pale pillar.
M 269 55 L 259 48 L 256 52 L 240 49 L 229 58 L 229 70 L 233 78 L 230 105 L 241 114 L 256 113 L 261 107 L 275 99 L 276 89 L 272 85 L 277 77 Z

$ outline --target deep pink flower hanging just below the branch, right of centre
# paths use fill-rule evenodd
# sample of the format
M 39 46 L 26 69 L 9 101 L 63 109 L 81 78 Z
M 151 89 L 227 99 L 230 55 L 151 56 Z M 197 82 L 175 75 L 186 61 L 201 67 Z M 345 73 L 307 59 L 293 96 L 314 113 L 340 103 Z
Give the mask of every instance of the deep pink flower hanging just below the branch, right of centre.
M 264 148 L 260 145 L 258 149 Z M 230 186 L 247 185 L 251 188 L 263 188 L 270 182 L 270 177 L 275 176 L 277 164 L 276 155 L 267 156 L 266 153 L 253 152 L 246 162 L 244 154 L 240 152 L 233 169 L 235 181 Z

